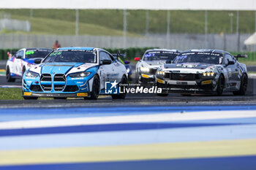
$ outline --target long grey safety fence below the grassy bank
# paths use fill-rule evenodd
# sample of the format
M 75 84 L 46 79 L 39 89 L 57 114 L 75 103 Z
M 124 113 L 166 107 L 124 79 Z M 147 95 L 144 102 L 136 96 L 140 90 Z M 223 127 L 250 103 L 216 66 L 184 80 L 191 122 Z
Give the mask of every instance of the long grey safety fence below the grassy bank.
M 250 34 L 151 34 L 148 36 L 60 36 L 42 34 L 0 34 L 0 49 L 22 47 L 53 47 L 56 40 L 62 47 L 161 47 L 167 49 L 219 49 L 227 51 L 256 51 L 256 46 L 246 47 L 244 40 Z

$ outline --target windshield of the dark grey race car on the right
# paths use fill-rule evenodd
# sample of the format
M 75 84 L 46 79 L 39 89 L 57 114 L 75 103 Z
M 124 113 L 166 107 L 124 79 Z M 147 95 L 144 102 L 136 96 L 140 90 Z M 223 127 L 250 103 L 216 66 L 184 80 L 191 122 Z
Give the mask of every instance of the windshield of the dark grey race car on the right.
M 178 55 L 173 63 L 222 63 L 220 53 L 183 53 Z

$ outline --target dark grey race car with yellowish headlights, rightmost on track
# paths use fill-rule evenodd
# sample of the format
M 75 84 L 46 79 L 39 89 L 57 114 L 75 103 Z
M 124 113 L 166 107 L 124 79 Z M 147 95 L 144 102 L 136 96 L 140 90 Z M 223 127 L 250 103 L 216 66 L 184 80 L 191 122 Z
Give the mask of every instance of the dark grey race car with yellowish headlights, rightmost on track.
M 248 82 L 246 65 L 222 50 L 188 50 L 173 63 L 157 70 L 157 85 L 167 90 L 187 93 L 233 92 L 244 95 Z

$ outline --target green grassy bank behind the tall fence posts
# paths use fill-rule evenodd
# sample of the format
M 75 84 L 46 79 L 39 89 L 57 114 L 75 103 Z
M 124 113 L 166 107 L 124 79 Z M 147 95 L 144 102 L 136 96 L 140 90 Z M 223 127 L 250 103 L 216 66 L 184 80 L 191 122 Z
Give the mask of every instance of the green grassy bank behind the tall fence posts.
M 0 12 L 10 13 L 12 18 L 30 20 L 34 33 L 75 34 L 74 9 L 33 9 L 34 18 L 29 17 L 30 9 L 1 9 Z M 146 10 L 128 10 L 127 12 L 127 30 L 129 33 L 145 34 Z M 208 11 L 208 33 L 229 34 L 230 17 L 228 14 L 230 12 L 233 12 L 234 15 L 233 33 L 235 33 L 236 11 Z M 79 17 L 80 34 L 122 34 L 123 10 L 82 9 L 79 12 Z M 166 20 L 166 11 L 149 11 L 149 32 L 164 34 L 166 32 Z M 204 22 L 204 11 L 170 11 L 171 33 L 204 34 Z M 239 12 L 239 31 L 241 33 L 253 33 L 255 31 L 255 12 Z

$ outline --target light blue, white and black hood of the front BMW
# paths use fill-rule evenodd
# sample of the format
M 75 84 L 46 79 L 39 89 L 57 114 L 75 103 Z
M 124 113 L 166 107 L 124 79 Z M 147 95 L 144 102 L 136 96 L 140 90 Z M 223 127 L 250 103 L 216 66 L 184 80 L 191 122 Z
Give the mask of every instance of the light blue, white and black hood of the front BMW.
M 83 72 L 96 65 L 96 63 L 42 63 L 34 66 L 30 71 L 39 74 L 67 74 Z

